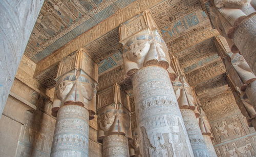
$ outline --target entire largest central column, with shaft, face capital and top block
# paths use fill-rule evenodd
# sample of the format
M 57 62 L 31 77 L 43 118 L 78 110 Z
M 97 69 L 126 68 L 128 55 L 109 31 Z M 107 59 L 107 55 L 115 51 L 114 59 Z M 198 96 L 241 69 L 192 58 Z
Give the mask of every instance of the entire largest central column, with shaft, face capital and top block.
M 194 156 L 169 78 L 168 49 L 151 14 L 143 12 L 119 30 L 125 74 L 133 83 L 140 155 Z

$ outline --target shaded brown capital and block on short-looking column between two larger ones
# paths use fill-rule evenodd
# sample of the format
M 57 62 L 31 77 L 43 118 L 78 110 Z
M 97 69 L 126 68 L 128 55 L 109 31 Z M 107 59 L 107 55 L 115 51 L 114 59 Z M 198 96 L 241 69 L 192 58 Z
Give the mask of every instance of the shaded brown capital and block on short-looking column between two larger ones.
M 111 134 L 132 138 L 129 97 L 116 83 L 97 94 L 98 141 Z

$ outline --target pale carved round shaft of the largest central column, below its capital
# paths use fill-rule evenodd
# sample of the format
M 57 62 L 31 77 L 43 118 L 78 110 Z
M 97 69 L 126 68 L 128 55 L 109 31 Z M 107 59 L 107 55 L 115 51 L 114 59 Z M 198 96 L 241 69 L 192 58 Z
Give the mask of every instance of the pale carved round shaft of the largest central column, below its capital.
M 167 71 L 146 66 L 133 76 L 142 156 L 194 156 Z

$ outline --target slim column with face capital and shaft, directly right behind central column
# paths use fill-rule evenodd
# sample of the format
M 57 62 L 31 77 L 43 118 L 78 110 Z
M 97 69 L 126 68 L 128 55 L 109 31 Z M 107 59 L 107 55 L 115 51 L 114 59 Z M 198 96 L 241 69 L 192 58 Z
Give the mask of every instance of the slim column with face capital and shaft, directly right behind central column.
M 179 79 L 183 83 L 180 82 Z M 179 75 L 173 82 L 173 85 L 194 156 L 209 156 L 194 112 L 196 102 L 191 87 L 187 83 L 186 78 L 183 76 L 180 77 Z

